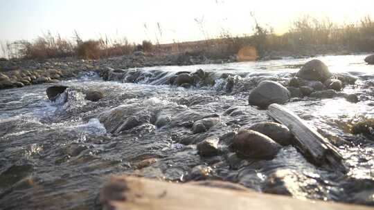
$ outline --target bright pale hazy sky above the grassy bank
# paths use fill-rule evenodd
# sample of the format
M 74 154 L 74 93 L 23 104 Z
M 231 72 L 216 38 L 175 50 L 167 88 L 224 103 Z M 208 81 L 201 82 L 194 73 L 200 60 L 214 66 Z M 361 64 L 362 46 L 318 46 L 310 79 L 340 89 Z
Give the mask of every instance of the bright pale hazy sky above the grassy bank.
M 337 23 L 374 17 L 374 0 L 0 0 L 0 41 L 33 40 L 48 31 L 71 39 L 74 30 L 82 39 L 194 41 L 222 31 L 251 34 L 251 14 L 281 34 L 303 15 Z

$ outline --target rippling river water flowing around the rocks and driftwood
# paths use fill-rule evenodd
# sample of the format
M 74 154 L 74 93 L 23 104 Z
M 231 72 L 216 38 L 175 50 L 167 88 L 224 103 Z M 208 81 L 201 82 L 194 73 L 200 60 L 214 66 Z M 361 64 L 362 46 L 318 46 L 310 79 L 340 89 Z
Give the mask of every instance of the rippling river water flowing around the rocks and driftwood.
M 47 84 L 0 90 L 0 209 L 100 209 L 100 187 L 110 175 L 124 173 L 175 182 L 225 180 L 295 198 L 374 205 L 374 139 L 348 132 L 353 122 L 374 115 L 374 66 L 364 57 L 318 57 L 333 73 L 358 77 L 343 90 L 356 93 L 358 103 L 336 97 L 285 104 L 339 146 L 350 166 L 347 174 L 310 164 L 292 146 L 273 160 L 197 154 L 195 144 L 205 137 L 270 120 L 265 110 L 248 105 L 249 91 L 264 79 L 287 81 L 308 59 L 143 68 L 161 76 L 136 84 L 82 75 L 62 82 L 70 87 L 66 104 L 48 100 Z M 198 68 L 215 74 L 214 86 L 159 85 L 179 71 Z M 235 78 L 231 93 L 220 77 L 224 73 Z M 85 100 L 90 88 L 103 90 L 105 97 Z M 109 131 L 99 118 L 117 107 L 150 120 L 125 132 Z M 204 133 L 191 132 L 191 123 L 211 115 L 220 115 L 221 122 Z M 160 119 L 166 123 L 157 124 Z

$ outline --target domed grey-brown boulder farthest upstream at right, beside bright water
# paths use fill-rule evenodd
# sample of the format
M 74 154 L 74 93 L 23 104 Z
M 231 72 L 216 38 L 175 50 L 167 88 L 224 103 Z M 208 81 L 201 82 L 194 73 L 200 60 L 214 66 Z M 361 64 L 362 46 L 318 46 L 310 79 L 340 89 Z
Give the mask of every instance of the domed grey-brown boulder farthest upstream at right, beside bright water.
M 297 77 L 319 82 L 325 82 L 331 76 L 328 66 L 318 59 L 308 61 L 297 73 Z

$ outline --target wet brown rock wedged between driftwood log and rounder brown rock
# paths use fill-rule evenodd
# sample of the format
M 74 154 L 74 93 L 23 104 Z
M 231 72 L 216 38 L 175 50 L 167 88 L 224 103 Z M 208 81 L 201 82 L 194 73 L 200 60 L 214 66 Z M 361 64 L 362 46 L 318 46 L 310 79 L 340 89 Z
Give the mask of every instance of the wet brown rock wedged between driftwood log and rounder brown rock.
M 249 129 L 267 135 L 271 140 L 274 140 L 274 142 L 283 146 L 292 143 L 292 133 L 290 132 L 290 129 L 283 124 L 278 124 L 276 122 L 260 122 L 250 126 Z

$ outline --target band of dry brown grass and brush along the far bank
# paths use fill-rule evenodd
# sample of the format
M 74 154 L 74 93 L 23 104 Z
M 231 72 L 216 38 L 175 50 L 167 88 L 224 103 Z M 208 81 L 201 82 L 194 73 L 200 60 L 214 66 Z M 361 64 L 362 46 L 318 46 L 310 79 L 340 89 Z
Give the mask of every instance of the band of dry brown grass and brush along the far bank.
M 255 19 L 256 20 L 256 19 Z M 198 25 L 204 35 L 206 30 Z M 161 36 L 160 30 L 160 36 Z M 99 59 L 130 55 L 135 50 L 144 52 L 187 54 L 205 56 L 210 59 L 225 59 L 237 55 L 243 48 L 254 48 L 261 57 L 270 51 L 287 51 L 294 54 L 304 52 L 308 48 L 323 46 L 330 53 L 340 48 L 349 52 L 370 52 L 374 49 L 374 21 L 364 17 L 357 23 L 338 25 L 329 19 L 316 19 L 310 16 L 301 17 L 292 23 L 284 35 L 274 34 L 271 28 L 259 26 L 257 21 L 253 35 L 234 37 L 228 31 L 216 39 L 190 41 L 173 44 L 153 45 L 151 41 L 142 44 L 131 44 L 127 39 L 107 39 L 82 41 L 75 32 L 75 41 L 62 39 L 60 35 L 51 33 L 38 37 L 33 41 L 0 42 L 1 51 L 8 59 L 48 59 L 55 57 L 80 57 L 84 59 Z M 243 50 L 242 50 L 243 51 Z M 245 50 L 244 50 L 245 51 Z

